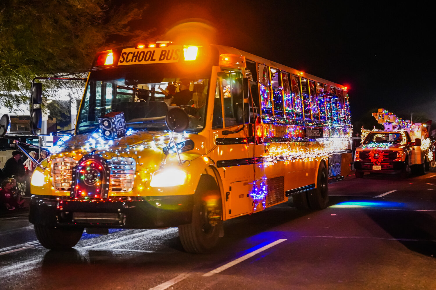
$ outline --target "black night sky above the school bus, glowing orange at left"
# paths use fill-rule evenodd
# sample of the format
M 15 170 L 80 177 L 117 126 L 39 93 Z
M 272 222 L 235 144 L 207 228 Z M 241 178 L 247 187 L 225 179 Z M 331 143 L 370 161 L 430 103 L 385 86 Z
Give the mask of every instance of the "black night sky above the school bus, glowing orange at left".
M 198 18 L 215 43 L 348 86 L 354 122 L 373 108 L 436 121 L 435 17 L 418 1 L 135 2 L 149 6 L 134 26 L 152 35 Z

